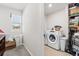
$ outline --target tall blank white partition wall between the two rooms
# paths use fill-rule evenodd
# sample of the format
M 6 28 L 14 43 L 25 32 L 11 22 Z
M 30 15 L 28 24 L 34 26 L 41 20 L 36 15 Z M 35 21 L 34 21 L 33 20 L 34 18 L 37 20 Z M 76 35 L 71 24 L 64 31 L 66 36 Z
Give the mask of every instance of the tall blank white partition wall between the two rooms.
M 44 55 L 43 22 L 43 4 L 28 4 L 23 12 L 23 34 L 31 55 Z

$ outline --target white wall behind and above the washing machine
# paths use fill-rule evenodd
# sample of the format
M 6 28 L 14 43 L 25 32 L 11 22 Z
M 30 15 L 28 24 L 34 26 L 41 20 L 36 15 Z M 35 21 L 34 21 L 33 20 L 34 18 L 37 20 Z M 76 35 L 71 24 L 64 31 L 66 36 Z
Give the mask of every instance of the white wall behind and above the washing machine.
M 62 26 L 64 34 L 68 37 L 68 5 L 64 9 L 47 16 L 47 30 L 55 25 Z

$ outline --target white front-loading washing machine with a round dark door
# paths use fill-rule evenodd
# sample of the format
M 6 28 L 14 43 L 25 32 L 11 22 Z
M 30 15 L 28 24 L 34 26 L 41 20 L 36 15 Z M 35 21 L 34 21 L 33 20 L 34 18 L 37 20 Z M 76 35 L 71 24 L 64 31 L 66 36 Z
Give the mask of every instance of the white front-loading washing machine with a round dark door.
M 48 46 L 57 50 L 60 49 L 59 38 L 55 32 L 49 32 L 47 38 L 48 38 Z

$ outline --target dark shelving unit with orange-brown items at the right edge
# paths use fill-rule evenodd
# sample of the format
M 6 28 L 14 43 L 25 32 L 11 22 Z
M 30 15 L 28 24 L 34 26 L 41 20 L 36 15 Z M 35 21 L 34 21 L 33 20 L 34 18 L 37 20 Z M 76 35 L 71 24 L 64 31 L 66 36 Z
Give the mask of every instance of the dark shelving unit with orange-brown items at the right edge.
M 69 51 L 72 51 L 72 36 L 79 31 L 79 3 L 69 4 Z

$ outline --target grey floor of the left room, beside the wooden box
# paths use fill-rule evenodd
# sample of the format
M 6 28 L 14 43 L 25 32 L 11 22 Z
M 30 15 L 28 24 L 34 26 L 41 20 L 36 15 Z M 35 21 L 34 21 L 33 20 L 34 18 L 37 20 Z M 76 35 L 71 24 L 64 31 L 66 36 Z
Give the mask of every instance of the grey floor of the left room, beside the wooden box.
M 21 45 L 14 49 L 5 51 L 4 56 L 30 56 L 30 54 L 25 47 Z

